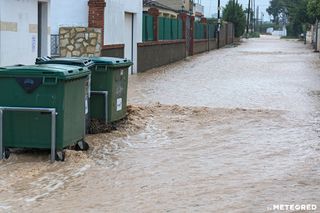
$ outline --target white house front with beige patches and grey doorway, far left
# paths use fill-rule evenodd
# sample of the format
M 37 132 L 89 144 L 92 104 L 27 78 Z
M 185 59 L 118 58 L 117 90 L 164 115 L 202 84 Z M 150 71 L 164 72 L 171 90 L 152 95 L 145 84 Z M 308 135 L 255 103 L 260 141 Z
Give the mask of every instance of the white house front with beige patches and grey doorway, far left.
M 0 66 L 50 54 L 50 0 L 0 0 Z

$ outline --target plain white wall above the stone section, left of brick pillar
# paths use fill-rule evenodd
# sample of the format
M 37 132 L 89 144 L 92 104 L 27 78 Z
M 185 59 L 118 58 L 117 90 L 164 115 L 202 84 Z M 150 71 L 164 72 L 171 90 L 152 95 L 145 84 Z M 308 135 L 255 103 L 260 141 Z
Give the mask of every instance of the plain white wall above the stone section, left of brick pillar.
M 88 27 L 88 0 L 52 0 L 51 34 L 60 27 Z

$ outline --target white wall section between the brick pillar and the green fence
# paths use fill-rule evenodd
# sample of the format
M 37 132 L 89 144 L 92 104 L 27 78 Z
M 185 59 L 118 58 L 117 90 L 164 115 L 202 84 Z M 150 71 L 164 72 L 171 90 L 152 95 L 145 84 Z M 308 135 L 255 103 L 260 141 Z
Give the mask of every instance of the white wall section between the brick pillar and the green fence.
M 142 0 L 106 0 L 104 44 L 124 44 L 125 57 L 133 60 L 133 72 L 137 71 L 137 44 L 142 42 Z M 133 14 L 133 57 L 131 37 L 127 35 L 128 14 Z M 127 17 L 127 18 L 126 18 Z

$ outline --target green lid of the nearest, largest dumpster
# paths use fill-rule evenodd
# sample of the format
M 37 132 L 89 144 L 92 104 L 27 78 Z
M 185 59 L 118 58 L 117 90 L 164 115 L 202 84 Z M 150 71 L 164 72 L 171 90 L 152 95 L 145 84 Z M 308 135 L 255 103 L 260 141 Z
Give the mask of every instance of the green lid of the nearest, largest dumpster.
M 69 80 L 81 78 L 89 74 L 90 71 L 86 67 L 63 64 L 0 67 L 0 77 L 35 76 Z

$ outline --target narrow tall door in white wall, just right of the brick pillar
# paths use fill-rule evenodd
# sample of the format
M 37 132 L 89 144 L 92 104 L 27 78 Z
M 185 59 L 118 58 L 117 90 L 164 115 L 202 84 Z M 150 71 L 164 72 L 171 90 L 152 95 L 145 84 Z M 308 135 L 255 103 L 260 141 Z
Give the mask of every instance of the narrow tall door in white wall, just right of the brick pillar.
M 134 48 L 133 48 L 133 43 L 134 43 L 134 14 L 133 13 L 125 13 L 125 46 L 124 46 L 124 56 L 127 59 L 130 59 L 131 61 L 134 60 Z M 129 68 L 129 73 L 133 74 L 133 66 Z

